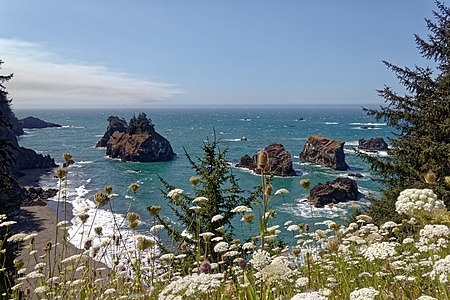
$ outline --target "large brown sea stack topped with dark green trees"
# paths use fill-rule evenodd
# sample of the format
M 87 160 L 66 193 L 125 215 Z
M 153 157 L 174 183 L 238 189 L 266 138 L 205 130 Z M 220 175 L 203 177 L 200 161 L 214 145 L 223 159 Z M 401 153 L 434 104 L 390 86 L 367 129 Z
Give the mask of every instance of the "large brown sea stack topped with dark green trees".
M 170 160 L 176 155 L 169 141 L 155 131 L 155 125 L 145 113 L 133 116 L 128 125 L 117 116 L 109 117 L 108 121 L 107 131 L 97 147 L 106 146 L 106 154 L 110 157 L 122 161 L 156 162 Z

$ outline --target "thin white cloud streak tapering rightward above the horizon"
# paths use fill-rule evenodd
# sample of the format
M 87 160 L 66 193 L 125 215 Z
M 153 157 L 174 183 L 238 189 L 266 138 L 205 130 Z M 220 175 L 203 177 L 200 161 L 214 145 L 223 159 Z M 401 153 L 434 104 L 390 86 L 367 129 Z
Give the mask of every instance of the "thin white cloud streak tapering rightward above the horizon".
M 14 73 L 7 89 L 16 108 L 142 106 L 181 94 L 172 84 L 143 80 L 101 65 L 60 62 L 54 53 L 25 41 L 0 39 L 0 53 L 2 74 Z

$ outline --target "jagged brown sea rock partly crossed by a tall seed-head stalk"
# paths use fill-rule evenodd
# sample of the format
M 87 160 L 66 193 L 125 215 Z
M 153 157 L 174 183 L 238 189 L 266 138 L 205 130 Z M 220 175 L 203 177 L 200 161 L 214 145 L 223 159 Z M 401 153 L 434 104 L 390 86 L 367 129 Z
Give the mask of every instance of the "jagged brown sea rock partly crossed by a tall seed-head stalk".
M 269 173 L 276 176 L 296 176 L 294 168 L 292 167 L 291 154 L 284 149 L 284 146 L 279 143 L 272 143 L 264 150 L 268 155 Z M 239 164 L 236 167 L 246 168 L 255 171 L 260 174 L 261 170 L 256 168 L 258 154 L 250 157 L 249 155 L 244 155 L 241 158 Z

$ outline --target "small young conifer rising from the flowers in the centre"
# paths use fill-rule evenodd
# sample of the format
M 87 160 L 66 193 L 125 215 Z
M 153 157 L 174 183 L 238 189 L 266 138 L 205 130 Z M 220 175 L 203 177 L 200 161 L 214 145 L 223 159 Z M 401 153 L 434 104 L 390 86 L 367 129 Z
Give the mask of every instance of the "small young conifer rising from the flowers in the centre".
M 227 150 L 220 150 L 218 141 L 214 139 L 212 142 L 205 142 L 203 147 L 203 157 L 197 157 L 194 160 L 186 151 L 186 157 L 189 160 L 192 169 L 195 172 L 196 180 L 191 178 L 194 184 L 194 196 L 182 193 L 177 197 L 168 197 L 170 207 L 174 211 L 175 216 L 183 224 L 183 229 L 192 235 L 192 239 L 181 235 L 181 231 L 175 228 L 169 228 L 169 222 L 158 215 L 161 224 L 165 225 L 169 231 L 169 235 L 178 243 L 183 241 L 188 244 L 195 244 L 195 240 L 200 243 L 200 249 L 205 257 L 216 260 L 217 254 L 211 251 L 211 247 L 205 247 L 203 238 L 199 238 L 200 233 L 211 232 L 215 237 L 221 236 L 229 241 L 233 235 L 233 226 L 231 220 L 234 213 L 233 208 L 239 205 L 249 205 L 251 199 L 243 196 L 243 191 L 239 188 L 237 179 L 232 174 L 228 161 L 226 159 Z M 174 190 L 175 186 L 169 184 L 160 178 L 166 195 L 169 191 Z M 195 201 L 202 199 L 203 201 Z M 193 209 L 198 206 L 199 209 Z M 212 218 L 221 215 L 223 218 L 212 222 Z M 178 221 L 177 220 L 177 221 Z M 221 230 L 223 228 L 223 230 Z M 204 253 L 206 252 L 206 253 Z

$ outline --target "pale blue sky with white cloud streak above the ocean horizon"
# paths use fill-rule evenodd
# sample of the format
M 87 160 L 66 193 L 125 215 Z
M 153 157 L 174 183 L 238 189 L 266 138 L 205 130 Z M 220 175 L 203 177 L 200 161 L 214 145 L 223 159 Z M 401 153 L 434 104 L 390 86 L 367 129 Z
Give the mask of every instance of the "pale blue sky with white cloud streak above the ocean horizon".
M 432 0 L 0 0 L 13 107 L 377 105 Z

